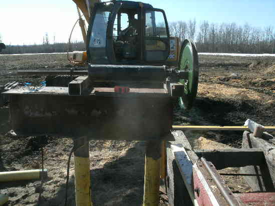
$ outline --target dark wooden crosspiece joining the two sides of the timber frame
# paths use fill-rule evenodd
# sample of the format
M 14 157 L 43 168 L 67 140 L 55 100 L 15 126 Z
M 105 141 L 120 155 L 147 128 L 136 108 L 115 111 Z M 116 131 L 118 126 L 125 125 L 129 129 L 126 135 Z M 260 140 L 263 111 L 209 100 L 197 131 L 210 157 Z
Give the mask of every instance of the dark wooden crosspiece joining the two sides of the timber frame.
M 207 161 L 211 161 L 217 169 L 256 165 L 264 161 L 263 151 L 258 148 L 235 148 L 194 151 L 198 157 L 204 157 Z

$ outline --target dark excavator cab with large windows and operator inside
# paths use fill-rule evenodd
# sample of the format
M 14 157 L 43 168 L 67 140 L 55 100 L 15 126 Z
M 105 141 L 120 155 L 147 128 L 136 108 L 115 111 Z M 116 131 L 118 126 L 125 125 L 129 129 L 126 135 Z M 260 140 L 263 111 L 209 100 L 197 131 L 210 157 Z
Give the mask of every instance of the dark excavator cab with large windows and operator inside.
M 91 64 L 163 65 L 169 56 L 165 12 L 147 3 L 96 3 L 87 33 Z

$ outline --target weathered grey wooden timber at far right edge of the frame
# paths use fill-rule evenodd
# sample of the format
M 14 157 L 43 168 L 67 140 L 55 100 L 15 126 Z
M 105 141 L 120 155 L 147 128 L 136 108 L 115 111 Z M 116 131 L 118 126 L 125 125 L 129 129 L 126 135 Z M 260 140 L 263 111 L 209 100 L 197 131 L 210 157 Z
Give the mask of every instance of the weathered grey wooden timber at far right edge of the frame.
M 249 138 L 248 138 L 249 137 Z M 270 135 L 263 133 L 263 138 L 267 138 L 272 142 Z M 245 180 L 253 191 L 273 190 L 275 185 L 275 145 L 267 140 L 257 138 L 248 131 L 243 132 L 242 147 L 243 148 L 258 148 L 263 150 L 264 160 L 257 166 L 241 167 L 242 173 L 261 174 L 261 176 L 245 176 Z

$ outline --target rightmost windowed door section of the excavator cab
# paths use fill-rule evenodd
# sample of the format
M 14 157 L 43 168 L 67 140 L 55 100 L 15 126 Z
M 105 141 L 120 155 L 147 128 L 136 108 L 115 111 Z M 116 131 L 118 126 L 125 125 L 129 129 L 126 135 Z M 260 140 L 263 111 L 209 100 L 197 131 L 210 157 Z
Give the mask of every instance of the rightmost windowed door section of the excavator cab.
M 144 59 L 150 63 L 162 63 L 169 56 L 169 28 L 162 9 L 145 10 Z

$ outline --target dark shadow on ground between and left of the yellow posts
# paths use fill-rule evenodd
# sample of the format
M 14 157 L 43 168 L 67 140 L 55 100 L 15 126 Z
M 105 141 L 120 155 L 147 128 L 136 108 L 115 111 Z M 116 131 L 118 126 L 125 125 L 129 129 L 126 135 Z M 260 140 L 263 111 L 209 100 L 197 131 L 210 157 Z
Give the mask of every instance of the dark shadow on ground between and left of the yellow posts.
M 144 142 L 137 142 L 124 156 L 91 169 L 93 205 L 141 205 L 144 184 Z M 92 152 L 90 154 L 93 155 Z M 75 183 L 71 172 L 68 206 L 75 205 Z M 66 184 L 62 184 L 52 199 L 41 199 L 37 205 L 64 205 Z M 43 194 L 42 194 L 43 196 Z

